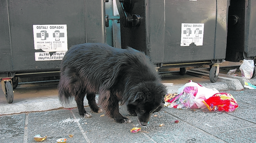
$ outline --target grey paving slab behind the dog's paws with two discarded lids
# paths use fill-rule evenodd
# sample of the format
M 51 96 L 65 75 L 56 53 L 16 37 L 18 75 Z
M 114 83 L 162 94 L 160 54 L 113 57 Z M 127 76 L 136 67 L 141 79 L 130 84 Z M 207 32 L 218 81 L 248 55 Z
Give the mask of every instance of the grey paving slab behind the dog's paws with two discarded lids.
M 80 132 L 70 110 L 55 110 L 28 114 L 27 142 L 36 142 L 33 137 L 37 134 L 47 135 L 47 142 L 56 142 L 58 138 L 68 138 L 68 142 L 83 143 L 86 139 Z M 74 138 L 68 135 L 73 134 Z

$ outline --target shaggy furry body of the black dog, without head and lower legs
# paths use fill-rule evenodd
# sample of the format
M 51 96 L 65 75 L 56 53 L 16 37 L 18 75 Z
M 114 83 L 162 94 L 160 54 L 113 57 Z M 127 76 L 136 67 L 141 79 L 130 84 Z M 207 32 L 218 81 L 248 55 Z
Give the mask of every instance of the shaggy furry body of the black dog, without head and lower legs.
M 118 49 L 99 43 L 71 47 L 62 60 L 60 76 L 61 103 L 68 104 L 77 92 L 98 92 L 99 103 L 104 108 L 112 100 L 110 96 L 116 96 L 121 103 L 128 101 L 130 90 L 137 84 L 161 84 L 159 75 L 144 53 L 129 47 Z

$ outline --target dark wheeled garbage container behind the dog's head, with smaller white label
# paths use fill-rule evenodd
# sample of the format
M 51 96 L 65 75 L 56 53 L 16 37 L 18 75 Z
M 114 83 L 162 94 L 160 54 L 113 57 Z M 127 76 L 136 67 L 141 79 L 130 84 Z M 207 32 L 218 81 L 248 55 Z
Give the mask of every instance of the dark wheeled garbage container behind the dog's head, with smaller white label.
M 225 58 L 229 1 L 119 0 L 121 46 L 144 51 L 158 67 L 211 65 Z

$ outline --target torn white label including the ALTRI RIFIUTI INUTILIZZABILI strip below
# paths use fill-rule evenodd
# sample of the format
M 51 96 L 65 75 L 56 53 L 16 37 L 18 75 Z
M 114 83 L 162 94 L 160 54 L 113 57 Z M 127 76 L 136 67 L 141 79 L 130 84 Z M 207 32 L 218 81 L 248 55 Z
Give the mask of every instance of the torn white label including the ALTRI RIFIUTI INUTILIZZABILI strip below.
M 35 60 L 62 60 L 67 51 L 67 25 L 33 25 L 34 48 L 45 52 L 35 52 Z

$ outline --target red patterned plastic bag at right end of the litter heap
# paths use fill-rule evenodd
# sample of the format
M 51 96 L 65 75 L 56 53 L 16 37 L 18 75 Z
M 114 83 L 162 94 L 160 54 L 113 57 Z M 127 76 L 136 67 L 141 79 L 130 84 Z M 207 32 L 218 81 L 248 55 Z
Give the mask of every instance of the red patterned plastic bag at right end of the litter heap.
M 237 107 L 238 104 L 235 98 L 229 93 L 217 93 L 214 94 L 212 97 L 203 101 L 209 111 L 226 111 L 232 112 Z

